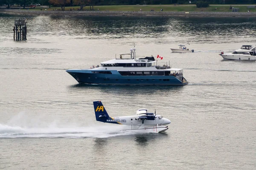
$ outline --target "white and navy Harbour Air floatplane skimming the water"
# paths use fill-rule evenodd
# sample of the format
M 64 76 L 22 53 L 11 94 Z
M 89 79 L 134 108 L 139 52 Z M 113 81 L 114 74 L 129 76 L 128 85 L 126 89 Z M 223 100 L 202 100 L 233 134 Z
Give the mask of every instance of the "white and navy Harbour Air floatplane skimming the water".
M 129 129 L 121 131 L 132 131 L 138 133 L 157 132 L 162 133 L 168 129 L 171 123 L 169 119 L 155 113 L 148 113 L 146 109 L 139 109 L 134 116 L 110 117 L 101 101 L 93 102 L 96 120 L 104 123 L 128 125 Z

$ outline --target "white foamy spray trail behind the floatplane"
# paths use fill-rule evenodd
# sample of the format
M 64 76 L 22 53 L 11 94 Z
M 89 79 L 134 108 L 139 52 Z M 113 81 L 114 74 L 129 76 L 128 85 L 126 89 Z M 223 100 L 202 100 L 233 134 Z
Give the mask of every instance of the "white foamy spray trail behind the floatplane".
M 1 138 L 108 138 L 113 136 L 137 134 L 123 132 L 126 126 L 92 126 L 92 127 L 20 127 L 0 124 Z

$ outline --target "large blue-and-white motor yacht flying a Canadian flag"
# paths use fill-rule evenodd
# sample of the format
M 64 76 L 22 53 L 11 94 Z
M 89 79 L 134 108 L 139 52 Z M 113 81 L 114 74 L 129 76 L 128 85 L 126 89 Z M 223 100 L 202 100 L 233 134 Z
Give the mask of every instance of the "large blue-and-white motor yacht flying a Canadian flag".
M 130 53 L 102 62 L 91 69 L 66 70 L 79 83 L 106 85 L 187 85 L 183 69 L 171 68 L 169 63 L 154 57 L 136 58 L 136 48 Z M 129 55 L 129 57 L 125 57 Z M 158 58 L 158 57 L 157 57 Z

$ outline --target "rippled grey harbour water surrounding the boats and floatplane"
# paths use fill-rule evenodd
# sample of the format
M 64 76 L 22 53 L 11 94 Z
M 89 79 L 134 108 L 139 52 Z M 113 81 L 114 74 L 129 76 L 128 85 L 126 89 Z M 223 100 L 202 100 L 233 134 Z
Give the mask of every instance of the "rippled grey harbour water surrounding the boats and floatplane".
M 22 16 L 28 40 L 16 42 L 18 17 L 0 14 L 0 169 L 256 169 L 256 62 L 218 55 L 256 45 L 256 18 Z M 134 44 L 189 85 L 79 85 L 65 72 Z M 171 53 L 179 44 L 195 53 Z M 96 100 L 110 116 L 156 109 L 172 123 L 120 133 L 96 122 Z

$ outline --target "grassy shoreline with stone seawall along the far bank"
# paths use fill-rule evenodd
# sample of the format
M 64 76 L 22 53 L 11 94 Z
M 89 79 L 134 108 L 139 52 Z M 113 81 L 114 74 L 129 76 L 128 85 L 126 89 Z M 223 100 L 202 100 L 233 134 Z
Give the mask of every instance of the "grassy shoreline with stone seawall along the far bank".
M 249 6 L 249 5 L 248 5 Z M 155 17 L 256 17 L 256 8 L 247 8 L 247 5 L 236 5 L 239 12 L 232 12 L 230 6 L 209 6 L 208 8 L 196 8 L 189 6 L 94 6 L 94 11 L 90 11 L 90 6 L 84 7 L 84 11 L 78 11 L 78 6 L 65 7 L 65 11 L 60 8 L 47 8 L 41 6 L 27 9 L 6 9 L 0 8 L 0 13 L 14 15 L 54 15 L 54 16 L 155 16 Z M 99 8 L 99 11 L 98 11 Z M 71 9 L 71 11 L 70 11 Z M 142 11 L 140 11 L 142 9 Z M 151 11 L 154 9 L 154 11 Z M 160 12 L 160 9 L 163 11 Z M 248 10 L 250 9 L 250 12 Z

